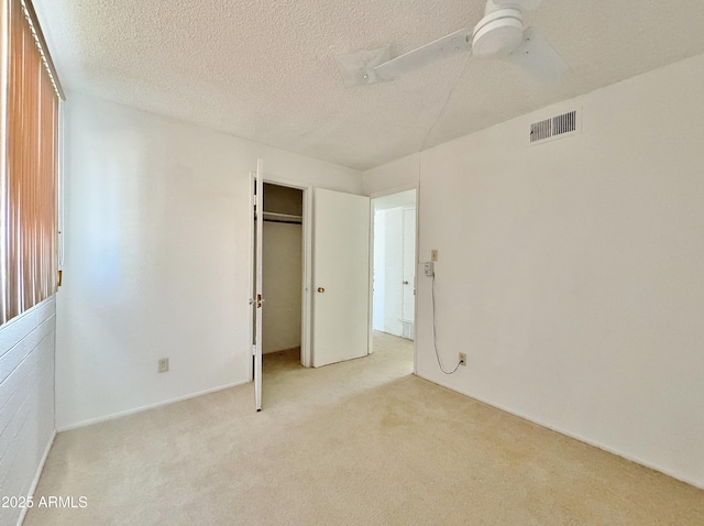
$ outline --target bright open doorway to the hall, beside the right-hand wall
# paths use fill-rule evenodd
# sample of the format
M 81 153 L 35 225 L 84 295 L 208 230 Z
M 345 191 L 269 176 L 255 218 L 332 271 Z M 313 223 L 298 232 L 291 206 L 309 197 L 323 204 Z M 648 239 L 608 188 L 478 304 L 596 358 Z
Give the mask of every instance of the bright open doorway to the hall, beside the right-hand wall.
M 416 189 L 374 198 L 372 210 L 372 329 L 415 340 Z

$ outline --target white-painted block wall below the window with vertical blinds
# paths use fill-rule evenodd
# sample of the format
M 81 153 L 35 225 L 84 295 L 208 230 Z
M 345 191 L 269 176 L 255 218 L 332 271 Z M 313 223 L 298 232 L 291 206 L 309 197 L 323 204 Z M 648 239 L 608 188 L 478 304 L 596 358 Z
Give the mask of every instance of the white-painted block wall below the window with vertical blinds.
M 0 328 L 0 487 L 26 496 L 54 439 L 56 303 L 50 298 Z M 0 507 L 15 524 L 20 507 Z

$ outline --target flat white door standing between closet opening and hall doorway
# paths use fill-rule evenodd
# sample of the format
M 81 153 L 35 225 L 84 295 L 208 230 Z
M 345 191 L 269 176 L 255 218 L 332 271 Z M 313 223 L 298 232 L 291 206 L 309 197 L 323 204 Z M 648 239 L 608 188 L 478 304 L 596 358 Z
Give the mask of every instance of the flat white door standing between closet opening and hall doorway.
M 370 199 L 316 189 L 312 365 L 369 352 Z

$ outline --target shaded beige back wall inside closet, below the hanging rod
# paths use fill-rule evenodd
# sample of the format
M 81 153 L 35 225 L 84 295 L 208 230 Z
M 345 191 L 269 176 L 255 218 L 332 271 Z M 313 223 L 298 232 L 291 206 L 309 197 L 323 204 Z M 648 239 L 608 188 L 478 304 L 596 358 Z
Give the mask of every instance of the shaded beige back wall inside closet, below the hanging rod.
M 300 347 L 302 227 L 264 222 L 262 351 Z

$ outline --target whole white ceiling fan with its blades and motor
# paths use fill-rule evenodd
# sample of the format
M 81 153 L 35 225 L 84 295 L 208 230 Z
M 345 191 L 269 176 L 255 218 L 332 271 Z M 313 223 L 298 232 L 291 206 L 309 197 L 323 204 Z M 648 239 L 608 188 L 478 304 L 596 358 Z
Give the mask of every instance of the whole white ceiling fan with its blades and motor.
M 404 55 L 391 58 L 389 48 L 362 51 L 337 57 L 345 86 L 393 80 L 426 64 L 459 53 L 507 61 L 540 84 L 552 84 L 569 69 L 558 52 L 524 15 L 541 0 L 487 0 L 484 18 L 472 31 L 461 29 Z

